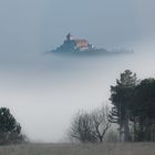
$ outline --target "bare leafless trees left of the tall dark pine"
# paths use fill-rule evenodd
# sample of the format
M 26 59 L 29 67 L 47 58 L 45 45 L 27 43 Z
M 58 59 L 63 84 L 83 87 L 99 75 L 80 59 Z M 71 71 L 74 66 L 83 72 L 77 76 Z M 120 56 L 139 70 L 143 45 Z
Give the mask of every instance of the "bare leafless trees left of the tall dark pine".
M 96 108 L 91 113 L 80 111 L 73 118 L 69 135 L 72 140 L 82 143 L 102 143 L 110 126 L 107 106 Z

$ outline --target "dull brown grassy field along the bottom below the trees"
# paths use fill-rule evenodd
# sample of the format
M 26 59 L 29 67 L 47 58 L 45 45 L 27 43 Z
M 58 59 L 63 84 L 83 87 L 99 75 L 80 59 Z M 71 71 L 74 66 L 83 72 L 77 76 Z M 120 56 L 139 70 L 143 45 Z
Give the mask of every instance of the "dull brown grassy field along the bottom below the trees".
M 0 146 L 0 155 L 155 155 L 155 143 L 22 144 Z

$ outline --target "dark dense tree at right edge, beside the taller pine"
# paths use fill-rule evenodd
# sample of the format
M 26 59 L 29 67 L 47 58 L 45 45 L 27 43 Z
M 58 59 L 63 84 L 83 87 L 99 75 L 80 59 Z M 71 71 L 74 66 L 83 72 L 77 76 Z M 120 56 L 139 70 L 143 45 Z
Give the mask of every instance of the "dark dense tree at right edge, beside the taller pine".
M 155 79 L 145 79 L 135 89 L 134 141 L 155 141 Z

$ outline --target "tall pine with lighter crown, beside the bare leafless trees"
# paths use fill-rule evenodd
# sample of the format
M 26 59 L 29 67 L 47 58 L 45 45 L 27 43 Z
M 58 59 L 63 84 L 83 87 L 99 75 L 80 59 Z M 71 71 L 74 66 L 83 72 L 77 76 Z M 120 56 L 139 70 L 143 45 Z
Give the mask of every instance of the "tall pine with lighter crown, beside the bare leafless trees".
M 111 111 L 111 122 L 120 125 L 120 140 L 124 133 L 124 141 L 130 141 L 130 116 L 133 106 L 134 89 L 137 84 L 136 74 L 130 70 L 121 73 L 120 80 L 116 80 L 116 85 L 111 86 L 111 97 L 113 108 Z

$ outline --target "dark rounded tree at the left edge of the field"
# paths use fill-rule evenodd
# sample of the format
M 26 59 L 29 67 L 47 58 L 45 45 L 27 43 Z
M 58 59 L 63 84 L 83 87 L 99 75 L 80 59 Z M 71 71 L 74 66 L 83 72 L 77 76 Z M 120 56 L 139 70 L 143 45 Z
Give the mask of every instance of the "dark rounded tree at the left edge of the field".
M 0 108 L 0 145 L 23 141 L 21 126 L 7 107 Z

